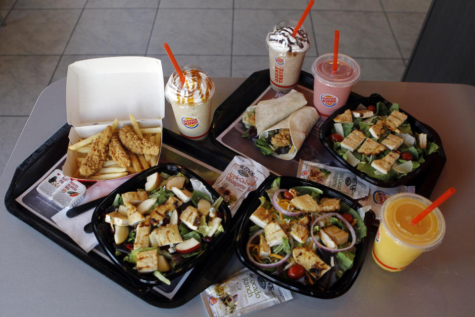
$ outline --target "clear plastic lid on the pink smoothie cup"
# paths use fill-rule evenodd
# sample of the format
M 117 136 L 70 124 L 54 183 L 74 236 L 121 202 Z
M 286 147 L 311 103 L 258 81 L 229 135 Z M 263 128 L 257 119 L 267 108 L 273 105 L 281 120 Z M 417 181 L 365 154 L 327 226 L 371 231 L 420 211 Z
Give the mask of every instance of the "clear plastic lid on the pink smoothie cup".
M 333 53 L 320 55 L 312 65 L 316 80 L 332 87 L 353 86 L 360 79 L 360 66 L 350 56 L 338 54 L 338 66 L 333 71 Z

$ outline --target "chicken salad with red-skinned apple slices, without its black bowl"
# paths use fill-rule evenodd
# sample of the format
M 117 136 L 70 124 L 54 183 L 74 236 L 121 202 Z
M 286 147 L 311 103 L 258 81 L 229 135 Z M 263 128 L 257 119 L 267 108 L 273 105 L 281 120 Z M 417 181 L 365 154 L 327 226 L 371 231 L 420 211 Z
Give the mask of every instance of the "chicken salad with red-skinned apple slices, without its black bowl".
M 202 253 L 224 229 L 206 187 L 181 173 L 153 173 L 144 189 L 117 194 L 105 215 L 116 256 L 166 284 L 168 272 Z

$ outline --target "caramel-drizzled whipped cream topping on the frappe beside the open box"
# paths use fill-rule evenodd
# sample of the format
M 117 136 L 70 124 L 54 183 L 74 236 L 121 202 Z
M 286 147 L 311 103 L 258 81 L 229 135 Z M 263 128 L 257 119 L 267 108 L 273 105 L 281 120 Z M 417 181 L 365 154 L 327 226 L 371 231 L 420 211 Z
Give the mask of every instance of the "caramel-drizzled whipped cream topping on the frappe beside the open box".
M 182 67 L 185 82 L 176 71 L 168 79 L 165 96 L 169 102 L 193 106 L 207 102 L 214 94 L 215 84 L 201 68 L 193 65 Z

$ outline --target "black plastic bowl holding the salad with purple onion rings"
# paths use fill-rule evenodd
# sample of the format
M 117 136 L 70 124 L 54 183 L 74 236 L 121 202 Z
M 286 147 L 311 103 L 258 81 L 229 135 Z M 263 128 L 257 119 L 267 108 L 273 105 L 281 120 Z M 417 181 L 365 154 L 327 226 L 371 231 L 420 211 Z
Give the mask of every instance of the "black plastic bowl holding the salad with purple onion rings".
M 297 281 L 286 278 L 286 276 L 271 274 L 266 270 L 252 264 L 252 262 L 248 260 L 246 254 L 246 244 L 249 240 L 249 227 L 254 225 L 254 223 L 249 220 L 249 216 L 260 206 L 261 202 L 259 201 L 259 197 L 266 195 L 266 190 L 271 188 L 272 183 L 276 178 L 277 176 L 269 176 L 256 191 L 250 194 L 253 196 L 249 197 L 248 204 L 246 204 L 246 206 L 241 206 L 238 210 L 238 212 L 244 213 L 243 220 L 239 227 L 238 237 L 236 240 L 236 253 L 238 259 L 254 273 L 288 290 L 322 299 L 331 299 L 343 295 L 353 285 L 356 280 L 356 277 L 358 276 L 361 271 L 361 268 L 363 267 L 363 263 L 365 262 L 366 254 L 368 253 L 367 251 L 371 242 L 370 230 L 373 220 L 375 218 L 375 213 L 373 211 L 366 212 L 364 217 L 364 223 L 367 228 L 367 235 L 362 239 L 361 243 L 356 246 L 356 256 L 354 259 L 353 266 L 346 270 L 343 275 L 336 281 L 332 281 L 330 279 L 330 277 L 332 276 L 332 273 L 330 271 L 324 274 L 313 285 L 304 285 Z M 291 176 L 280 177 L 281 189 L 288 189 L 296 186 L 316 187 L 323 191 L 323 195 L 325 197 L 339 198 L 342 202 L 353 208 L 355 211 L 361 208 L 361 205 L 358 204 L 356 201 L 329 187 L 302 178 Z M 317 251 L 317 255 L 318 252 L 319 251 Z M 322 260 L 324 259 L 322 258 Z

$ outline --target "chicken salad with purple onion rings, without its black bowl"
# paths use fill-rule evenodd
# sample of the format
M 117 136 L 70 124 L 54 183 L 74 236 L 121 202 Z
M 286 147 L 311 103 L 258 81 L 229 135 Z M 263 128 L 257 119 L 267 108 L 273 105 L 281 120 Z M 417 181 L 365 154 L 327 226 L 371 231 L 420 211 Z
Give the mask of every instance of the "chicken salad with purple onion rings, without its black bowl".
M 283 279 L 305 285 L 341 277 L 353 266 L 357 245 L 366 236 L 363 219 L 340 199 L 315 187 L 280 189 L 280 178 L 260 197 L 249 219 L 249 261 Z

